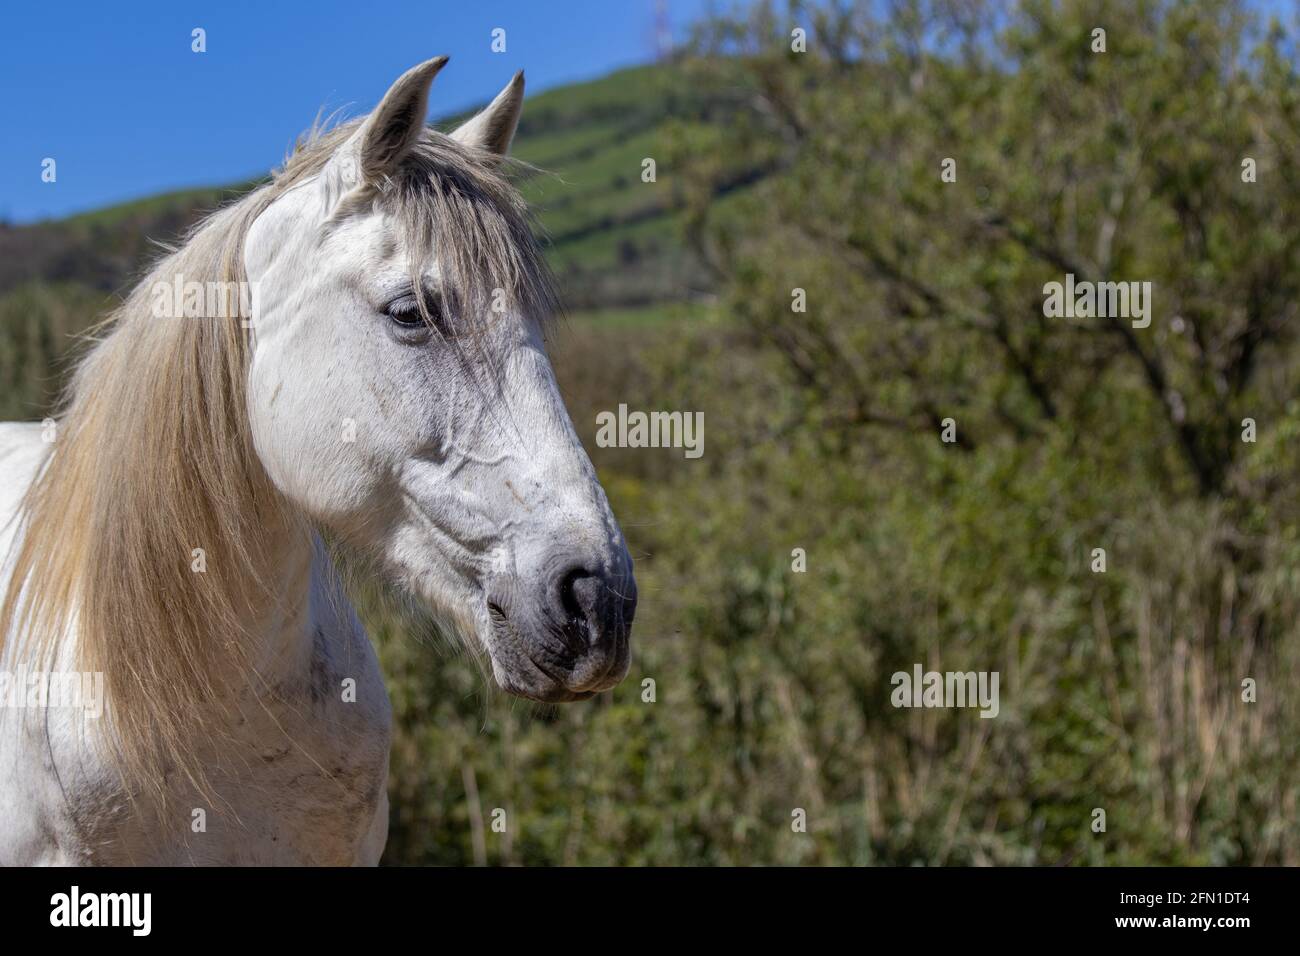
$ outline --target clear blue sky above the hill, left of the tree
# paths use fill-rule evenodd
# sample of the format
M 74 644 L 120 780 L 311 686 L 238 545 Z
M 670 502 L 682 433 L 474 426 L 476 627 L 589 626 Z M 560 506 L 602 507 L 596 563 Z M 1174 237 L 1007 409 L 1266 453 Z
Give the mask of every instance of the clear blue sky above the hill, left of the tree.
M 707 0 L 666 5 L 681 38 Z M 654 23 L 655 0 L 4 0 L 0 219 L 260 176 L 321 107 L 365 112 L 439 53 L 451 62 L 433 116 L 489 99 L 516 69 L 529 92 L 599 77 L 651 60 Z M 190 49 L 194 27 L 205 53 Z

